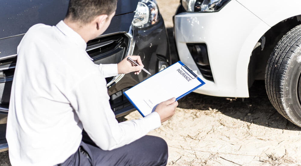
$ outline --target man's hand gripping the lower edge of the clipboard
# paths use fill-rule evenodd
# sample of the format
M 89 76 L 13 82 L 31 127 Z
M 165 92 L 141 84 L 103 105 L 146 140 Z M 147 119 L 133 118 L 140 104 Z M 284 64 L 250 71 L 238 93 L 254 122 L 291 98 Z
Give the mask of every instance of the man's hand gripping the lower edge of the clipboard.
M 161 123 L 169 120 L 175 114 L 175 108 L 178 106 L 178 102 L 175 101 L 175 98 L 166 100 L 157 105 L 155 112 L 160 116 Z

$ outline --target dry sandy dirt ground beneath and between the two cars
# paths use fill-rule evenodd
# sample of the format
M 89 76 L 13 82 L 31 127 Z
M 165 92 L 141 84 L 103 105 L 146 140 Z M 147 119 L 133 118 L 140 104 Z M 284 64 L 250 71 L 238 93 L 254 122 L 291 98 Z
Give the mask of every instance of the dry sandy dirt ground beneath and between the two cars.
M 175 54 L 172 16 L 179 0 L 157 3 Z M 301 165 L 301 128 L 273 108 L 264 81 L 244 101 L 190 93 L 178 102 L 175 115 L 149 133 L 166 140 L 168 165 Z M 121 120 L 137 118 L 135 111 Z M 0 153 L 0 165 L 10 165 L 7 152 Z

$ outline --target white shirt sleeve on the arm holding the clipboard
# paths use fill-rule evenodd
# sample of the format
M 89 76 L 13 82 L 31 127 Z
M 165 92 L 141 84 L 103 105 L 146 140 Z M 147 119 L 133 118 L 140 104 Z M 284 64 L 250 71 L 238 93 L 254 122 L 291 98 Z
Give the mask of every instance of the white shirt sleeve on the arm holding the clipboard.
M 160 127 L 160 116 L 153 112 L 144 118 L 118 123 L 107 94 L 105 79 L 99 71 L 86 76 L 72 90 L 71 105 L 83 128 L 102 150 L 112 150 L 129 144 Z

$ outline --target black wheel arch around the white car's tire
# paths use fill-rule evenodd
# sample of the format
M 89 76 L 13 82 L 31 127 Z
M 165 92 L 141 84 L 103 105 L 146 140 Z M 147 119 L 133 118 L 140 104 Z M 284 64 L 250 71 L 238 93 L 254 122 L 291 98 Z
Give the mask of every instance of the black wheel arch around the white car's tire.
M 244 81 L 244 87 L 249 88 L 252 86 L 254 80 L 264 80 L 265 67 L 272 50 L 281 37 L 299 24 L 301 24 L 301 14 L 280 20 L 274 26 L 266 29 L 264 29 L 264 26 L 259 27 L 261 31 L 250 33 L 250 35 L 256 36 L 256 38 L 246 40 L 241 48 L 237 61 L 237 84 Z M 251 49 L 250 47 L 247 48 L 248 43 L 252 43 Z M 251 53 L 246 55 L 245 49 L 248 49 Z M 246 76 L 244 80 L 242 80 L 244 76 L 241 71 L 244 71 L 243 75 Z

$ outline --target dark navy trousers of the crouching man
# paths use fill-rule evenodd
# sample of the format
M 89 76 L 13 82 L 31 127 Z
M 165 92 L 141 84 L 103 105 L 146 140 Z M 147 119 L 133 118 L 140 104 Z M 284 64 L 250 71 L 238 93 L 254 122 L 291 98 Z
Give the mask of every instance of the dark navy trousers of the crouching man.
M 167 164 L 167 144 L 160 137 L 146 135 L 130 144 L 110 151 L 102 150 L 89 141 L 85 142 L 82 141 L 76 153 L 58 166 L 161 166 Z

